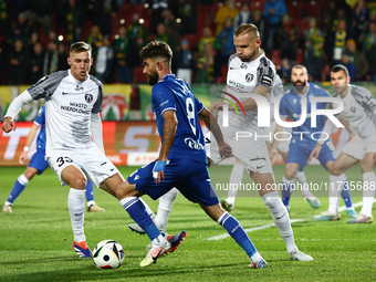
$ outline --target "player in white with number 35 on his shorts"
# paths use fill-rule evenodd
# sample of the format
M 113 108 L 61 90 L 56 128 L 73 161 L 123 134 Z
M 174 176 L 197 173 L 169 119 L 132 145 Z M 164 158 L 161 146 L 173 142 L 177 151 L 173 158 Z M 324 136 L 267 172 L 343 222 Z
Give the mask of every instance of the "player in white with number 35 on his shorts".
M 84 233 L 86 179 L 119 201 L 125 198 L 125 181 L 104 154 L 100 116 L 103 85 L 88 74 L 93 63 L 91 45 L 73 43 L 67 63 L 70 70 L 44 76 L 13 100 L 2 129 L 14 130 L 13 118 L 21 107 L 33 100 L 45 98 L 45 156 L 61 184 L 70 186 L 67 207 L 74 233 L 73 249 L 81 258 L 92 258 Z M 138 218 L 149 220 L 153 228 L 152 219 L 144 211 Z M 168 248 L 176 249 L 182 238 L 176 239 L 175 236 L 169 238 Z M 157 241 L 161 244 L 160 238 Z M 158 242 L 152 240 L 153 244 Z

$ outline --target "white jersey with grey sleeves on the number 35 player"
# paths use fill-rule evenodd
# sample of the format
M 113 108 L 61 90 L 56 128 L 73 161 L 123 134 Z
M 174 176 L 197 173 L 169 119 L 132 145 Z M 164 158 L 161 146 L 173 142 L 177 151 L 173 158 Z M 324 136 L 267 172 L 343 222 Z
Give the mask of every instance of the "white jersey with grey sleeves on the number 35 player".
M 83 150 L 91 139 L 91 115 L 102 109 L 103 85 L 92 75 L 81 82 L 71 71 L 52 73 L 28 88 L 33 100 L 45 98 L 45 155 Z

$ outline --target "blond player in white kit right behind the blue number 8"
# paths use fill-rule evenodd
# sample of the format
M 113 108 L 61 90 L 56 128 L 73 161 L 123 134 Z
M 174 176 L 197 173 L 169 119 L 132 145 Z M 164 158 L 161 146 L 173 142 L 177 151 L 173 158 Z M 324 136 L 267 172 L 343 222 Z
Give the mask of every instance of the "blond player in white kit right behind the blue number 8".
M 212 103 L 211 109 L 218 111 L 218 124 L 223 132 L 224 142 L 232 147 L 232 155 L 247 168 L 254 184 L 261 187 L 259 194 L 272 213 L 273 221 L 286 244 L 291 259 L 311 261 L 313 259 L 301 252 L 295 246 L 289 212 L 275 189 L 265 139 L 257 138 L 257 136 L 264 135 L 264 128 L 258 125 L 258 111 L 263 113 L 269 107 L 268 97 L 275 80 L 275 67 L 260 51 L 260 33 L 254 24 L 239 25 L 234 31 L 233 43 L 237 53 L 229 59 L 224 93 L 239 97 L 240 105 L 236 100 L 232 98 L 232 101 L 237 103 L 238 111 L 244 109 L 246 116 L 238 116 L 236 108 L 223 100 Z M 244 95 L 249 98 L 243 97 Z M 262 104 L 262 106 L 258 104 Z M 227 116 L 222 111 L 226 106 L 228 106 Z M 228 119 L 228 127 L 223 125 L 223 118 Z M 238 132 L 252 133 L 252 137 L 237 140 Z M 218 145 L 211 139 L 210 146 L 209 157 L 213 164 L 217 164 L 222 160 L 218 154 Z

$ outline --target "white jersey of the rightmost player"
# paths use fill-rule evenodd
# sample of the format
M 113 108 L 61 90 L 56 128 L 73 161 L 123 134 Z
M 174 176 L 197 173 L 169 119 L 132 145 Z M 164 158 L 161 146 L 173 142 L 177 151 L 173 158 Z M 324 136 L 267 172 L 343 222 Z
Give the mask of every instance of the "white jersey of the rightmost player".
M 335 96 L 337 96 L 336 94 Z M 365 87 L 348 85 L 347 95 L 342 100 L 344 109 L 341 115 L 346 117 L 362 138 L 376 136 L 375 114 L 376 101 Z

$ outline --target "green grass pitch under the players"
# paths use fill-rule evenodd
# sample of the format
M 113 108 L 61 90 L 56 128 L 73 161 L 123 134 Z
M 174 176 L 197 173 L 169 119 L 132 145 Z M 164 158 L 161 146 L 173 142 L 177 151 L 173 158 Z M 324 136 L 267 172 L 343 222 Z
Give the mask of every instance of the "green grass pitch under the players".
M 127 177 L 135 167 L 119 167 Z M 218 167 L 228 181 L 231 167 Z M 0 168 L 0 201 L 7 200 L 23 167 Z M 212 170 L 213 173 L 213 170 Z M 284 173 L 274 166 L 276 181 Z M 321 166 L 307 166 L 309 182 L 328 181 Z M 358 166 L 346 171 L 348 180 L 362 180 Z M 243 182 L 250 182 L 246 176 Z M 291 261 L 275 227 L 249 232 L 249 237 L 268 261 L 268 269 L 250 269 L 243 250 L 231 238 L 206 240 L 224 234 L 198 205 L 178 196 L 168 222 L 168 233 L 186 230 L 188 236 L 175 253 L 156 264 L 140 268 L 149 240 L 132 232 L 133 222 L 118 201 L 95 189 L 95 200 L 105 212 L 85 215 L 85 234 L 93 249 L 104 239 L 118 241 L 125 251 L 124 264 L 116 270 L 96 269 L 90 259 L 80 259 L 72 249 L 73 232 L 66 206 L 67 187 L 48 169 L 35 176 L 17 199 L 13 213 L 0 213 L 0 281 L 375 281 L 376 223 L 347 224 L 346 212 L 336 222 L 315 222 L 312 217 L 325 211 L 328 199 L 320 197 L 321 207 L 312 209 L 300 191 L 291 199 L 291 219 L 296 246 L 314 258 L 312 262 Z M 273 223 L 260 197 L 240 195 L 233 216 L 244 229 Z M 362 201 L 355 194 L 353 202 Z M 158 201 L 143 197 L 156 211 Z M 219 195 L 223 198 L 223 192 Z M 341 200 L 341 206 L 344 201 Z M 361 210 L 361 206 L 356 211 Z M 374 205 L 374 215 L 375 205 Z

